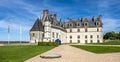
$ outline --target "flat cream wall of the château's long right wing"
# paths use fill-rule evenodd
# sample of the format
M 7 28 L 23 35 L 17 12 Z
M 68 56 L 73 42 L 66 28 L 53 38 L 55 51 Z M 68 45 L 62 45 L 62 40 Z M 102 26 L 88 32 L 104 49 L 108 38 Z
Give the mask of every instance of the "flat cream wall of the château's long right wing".
M 87 28 L 88 31 L 85 32 L 85 28 L 72 28 L 72 32 L 70 32 L 71 28 L 67 30 L 67 42 L 68 43 L 97 43 L 103 42 L 102 28 L 99 27 L 99 31 L 97 31 L 96 27 Z M 77 31 L 80 29 L 80 32 Z M 71 38 L 71 37 L 72 38 Z M 80 36 L 78 38 L 78 36 Z

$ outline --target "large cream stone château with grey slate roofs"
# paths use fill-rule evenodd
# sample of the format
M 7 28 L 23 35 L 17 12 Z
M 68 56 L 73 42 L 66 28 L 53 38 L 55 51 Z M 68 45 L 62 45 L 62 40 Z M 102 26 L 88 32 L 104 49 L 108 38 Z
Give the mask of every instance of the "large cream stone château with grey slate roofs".
M 63 22 L 57 20 L 56 14 L 49 14 L 43 10 L 43 15 L 36 20 L 30 30 L 30 42 L 54 42 L 56 39 L 61 43 L 99 43 L 103 42 L 101 16 L 91 19 L 67 19 Z

